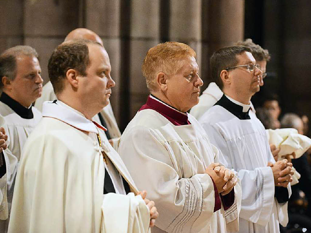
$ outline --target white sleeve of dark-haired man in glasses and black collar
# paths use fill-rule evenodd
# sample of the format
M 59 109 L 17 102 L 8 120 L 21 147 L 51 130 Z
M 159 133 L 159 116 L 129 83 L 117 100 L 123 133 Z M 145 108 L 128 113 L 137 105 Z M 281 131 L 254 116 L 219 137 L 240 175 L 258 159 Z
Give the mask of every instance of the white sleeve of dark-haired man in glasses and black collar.
M 203 123 L 202 126 L 209 135 L 211 143 L 222 152 L 219 156 L 220 162 L 232 169 L 232 158 L 235 155 L 230 152 L 225 138 L 213 125 Z M 274 202 L 274 178 L 272 169 L 270 167 L 259 167 L 254 170 L 241 169 L 237 171 L 237 174 L 242 187 L 241 212 L 239 217 L 265 226 L 270 219 Z

